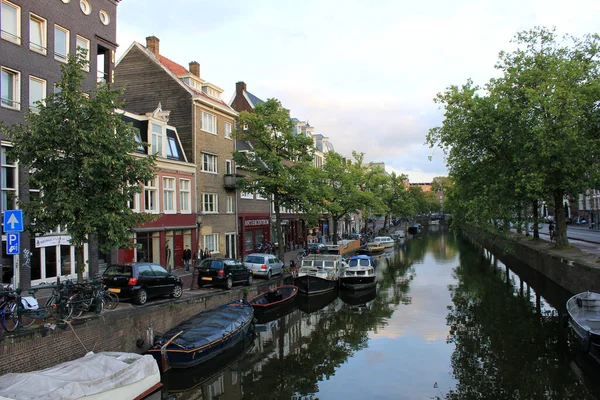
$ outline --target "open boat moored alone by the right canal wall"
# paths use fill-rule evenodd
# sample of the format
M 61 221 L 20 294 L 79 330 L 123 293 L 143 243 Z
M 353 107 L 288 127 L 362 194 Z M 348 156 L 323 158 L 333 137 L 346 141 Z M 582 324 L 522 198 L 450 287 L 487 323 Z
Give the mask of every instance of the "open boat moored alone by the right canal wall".
M 567 314 L 582 350 L 600 362 L 600 293 L 583 292 L 571 297 Z

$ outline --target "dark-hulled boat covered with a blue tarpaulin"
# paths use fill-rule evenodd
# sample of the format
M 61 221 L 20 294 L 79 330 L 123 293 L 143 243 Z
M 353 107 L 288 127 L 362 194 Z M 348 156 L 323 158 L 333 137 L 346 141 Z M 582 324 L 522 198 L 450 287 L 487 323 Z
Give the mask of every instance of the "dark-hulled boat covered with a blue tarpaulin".
M 148 350 L 163 372 L 188 368 L 215 358 L 251 333 L 254 308 L 235 300 L 204 311 L 155 338 Z

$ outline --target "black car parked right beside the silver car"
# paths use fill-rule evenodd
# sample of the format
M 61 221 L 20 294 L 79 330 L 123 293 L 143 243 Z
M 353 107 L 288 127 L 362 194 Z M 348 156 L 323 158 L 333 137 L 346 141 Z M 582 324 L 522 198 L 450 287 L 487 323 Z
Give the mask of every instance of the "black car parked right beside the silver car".
M 241 261 L 230 258 L 208 258 L 198 266 L 198 286 L 212 283 L 231 289 L 235 283 L 252 285 L 252 272 Z

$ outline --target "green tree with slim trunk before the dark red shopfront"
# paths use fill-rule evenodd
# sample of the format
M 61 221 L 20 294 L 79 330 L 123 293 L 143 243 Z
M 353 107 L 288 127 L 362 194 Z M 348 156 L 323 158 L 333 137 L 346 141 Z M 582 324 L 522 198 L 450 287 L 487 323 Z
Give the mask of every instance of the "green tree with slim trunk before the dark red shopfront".
M 271 199 L 275 210 L 275 240 L 283 260 L 281 208 L 309 209 L 310 179 L 314 176 L 312 139 L 294 135 L 289 110 L 276 99 L 258 104 L 254 112 L 239 116 L 238 140 L 252 144 L 252 151 L 236 151 L 236 165 L 248 174 L 239 188 Z

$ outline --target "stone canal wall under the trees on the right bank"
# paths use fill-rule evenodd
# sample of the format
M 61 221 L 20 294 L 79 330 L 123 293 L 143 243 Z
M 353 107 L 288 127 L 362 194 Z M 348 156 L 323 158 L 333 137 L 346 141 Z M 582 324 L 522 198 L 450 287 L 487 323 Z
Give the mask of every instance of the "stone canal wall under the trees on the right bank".
M 493 254 L 510 254 L 572 294 L 600 292 L 600 258 L 596 254 L 576 246 L 556 250 L 547 241 L 516 234 L 506 237 L 474 231 L 464 234 Z

